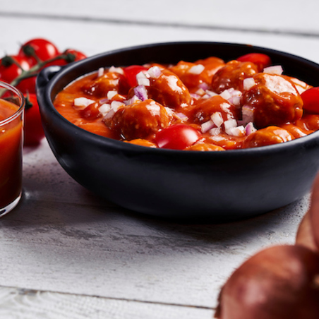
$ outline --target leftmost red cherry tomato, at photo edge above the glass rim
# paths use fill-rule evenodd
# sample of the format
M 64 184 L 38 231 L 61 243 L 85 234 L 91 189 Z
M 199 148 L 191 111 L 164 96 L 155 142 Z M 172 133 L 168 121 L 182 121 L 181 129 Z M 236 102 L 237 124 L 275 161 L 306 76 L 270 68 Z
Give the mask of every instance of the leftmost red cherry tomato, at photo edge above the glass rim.
M 0 60 L 0 80 L 11 83 L 17 76 L 20 76 L 22 70 L 15 62 L 20 64 L 25 71 L 30 69 L 28 61 L 22 56 L 4 56 Z

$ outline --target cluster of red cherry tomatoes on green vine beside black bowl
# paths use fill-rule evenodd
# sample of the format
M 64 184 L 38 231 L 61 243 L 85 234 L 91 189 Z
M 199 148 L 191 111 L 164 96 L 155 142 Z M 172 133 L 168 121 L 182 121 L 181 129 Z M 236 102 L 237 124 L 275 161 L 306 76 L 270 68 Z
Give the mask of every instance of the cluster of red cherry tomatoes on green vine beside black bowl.
M 60 52 L 56 45 L 48 40 L 32 39 L 20 46 L 18 54 L 7 55 L 0 59 L 0 80 L 11 83 L 27 99 L 24 145 L 37 145 L 44 138 L 35 95 L 35 80 L 38 71 L 45 66 L 64 66 L 85 58 L 85 54 L 75 49 Z

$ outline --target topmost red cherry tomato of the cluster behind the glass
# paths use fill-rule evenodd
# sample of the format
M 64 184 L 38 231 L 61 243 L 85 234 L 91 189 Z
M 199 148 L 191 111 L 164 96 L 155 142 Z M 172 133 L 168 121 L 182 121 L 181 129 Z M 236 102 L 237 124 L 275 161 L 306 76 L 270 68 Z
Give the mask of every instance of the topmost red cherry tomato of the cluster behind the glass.
M 32 56 L 32 52 L 37 55 L 41 61 L 54 58 L 59 55 L 59 50 L 56 46 L 45 39 L 32 39 L 20 47 L 19 56 L 28 59 L 30 66 L 37 64 L 37 59 Z

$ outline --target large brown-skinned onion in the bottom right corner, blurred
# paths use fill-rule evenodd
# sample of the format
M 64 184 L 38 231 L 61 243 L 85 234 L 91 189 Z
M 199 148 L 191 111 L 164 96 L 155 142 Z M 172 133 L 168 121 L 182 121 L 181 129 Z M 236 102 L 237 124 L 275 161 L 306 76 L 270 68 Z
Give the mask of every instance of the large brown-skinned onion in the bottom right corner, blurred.
M 219 319 L 318 319 L 319 254 L 274 246 L 253 255 L 219 295 Z

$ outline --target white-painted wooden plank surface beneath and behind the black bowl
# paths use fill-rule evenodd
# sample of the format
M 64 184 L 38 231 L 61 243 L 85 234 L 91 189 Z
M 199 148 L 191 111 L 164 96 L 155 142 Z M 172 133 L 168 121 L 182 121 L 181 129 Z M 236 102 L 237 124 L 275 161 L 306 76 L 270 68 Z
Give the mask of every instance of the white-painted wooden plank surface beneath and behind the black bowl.
M 255 44 L 319 63 L 317 0 L 0 0 L 0 55 L 45 37 L 88 55 L 152 42 Z M 24 197 L 0 219 L 0 318 L 212 318 L 256 251 L 293 243 L 308 196 L 242 222 L 171 222 L 73 181 L 46 140 L 24 154 Z

